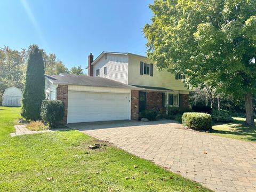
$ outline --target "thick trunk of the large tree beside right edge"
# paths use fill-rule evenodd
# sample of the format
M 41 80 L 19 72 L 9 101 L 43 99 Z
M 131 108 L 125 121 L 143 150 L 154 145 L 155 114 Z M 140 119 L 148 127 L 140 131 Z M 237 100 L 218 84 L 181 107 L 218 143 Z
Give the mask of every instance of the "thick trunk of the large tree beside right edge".
M 252 93 L 245 94 L 244 98 L 245 98 L 245 113 L 246 113 L 245 124 L 250 125 L 250 126 L 254 126 Z

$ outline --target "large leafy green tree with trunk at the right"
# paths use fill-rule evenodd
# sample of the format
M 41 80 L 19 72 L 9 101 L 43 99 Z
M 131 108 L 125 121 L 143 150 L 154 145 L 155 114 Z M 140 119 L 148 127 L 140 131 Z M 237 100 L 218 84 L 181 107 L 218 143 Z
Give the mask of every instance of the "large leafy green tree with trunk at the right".
M 256 0 L 155 0 L 149 7 L 154 16 L 143 32 L 157 67 L 185 74 L 192 86 L 221 84 L 244 99 L 245 123 L 254 125 Z

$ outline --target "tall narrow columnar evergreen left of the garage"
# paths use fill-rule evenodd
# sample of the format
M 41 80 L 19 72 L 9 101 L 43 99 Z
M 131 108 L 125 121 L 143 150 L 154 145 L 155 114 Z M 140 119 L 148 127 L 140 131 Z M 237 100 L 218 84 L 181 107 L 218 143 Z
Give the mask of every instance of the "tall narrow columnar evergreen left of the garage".
M 29 46 L 29 58 L 26 71 L 26 83 L 22 99 L 22 117 L 36 121 L 40 119 L 44 93 L 44 60 L 43 52 L 37 45 Z

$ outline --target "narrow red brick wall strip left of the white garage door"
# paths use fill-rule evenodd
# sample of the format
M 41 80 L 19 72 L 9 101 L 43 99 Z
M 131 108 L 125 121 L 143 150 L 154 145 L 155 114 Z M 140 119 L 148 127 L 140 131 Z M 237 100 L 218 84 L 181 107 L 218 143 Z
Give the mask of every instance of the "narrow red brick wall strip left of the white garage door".
M 63 101 L 65 105 L 65 113 L 62 123 L 67 123 L 68 117 L 68 85 L 58 85 L 57 87 L 57 99 Z

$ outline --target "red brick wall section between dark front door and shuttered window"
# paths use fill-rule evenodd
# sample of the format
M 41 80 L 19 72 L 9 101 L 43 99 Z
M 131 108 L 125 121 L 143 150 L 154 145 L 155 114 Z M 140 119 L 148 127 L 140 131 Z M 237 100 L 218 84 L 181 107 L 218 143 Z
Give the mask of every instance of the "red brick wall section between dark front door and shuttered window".
M 147 109 L 162 109 L 162 93 L 147 92 Z

